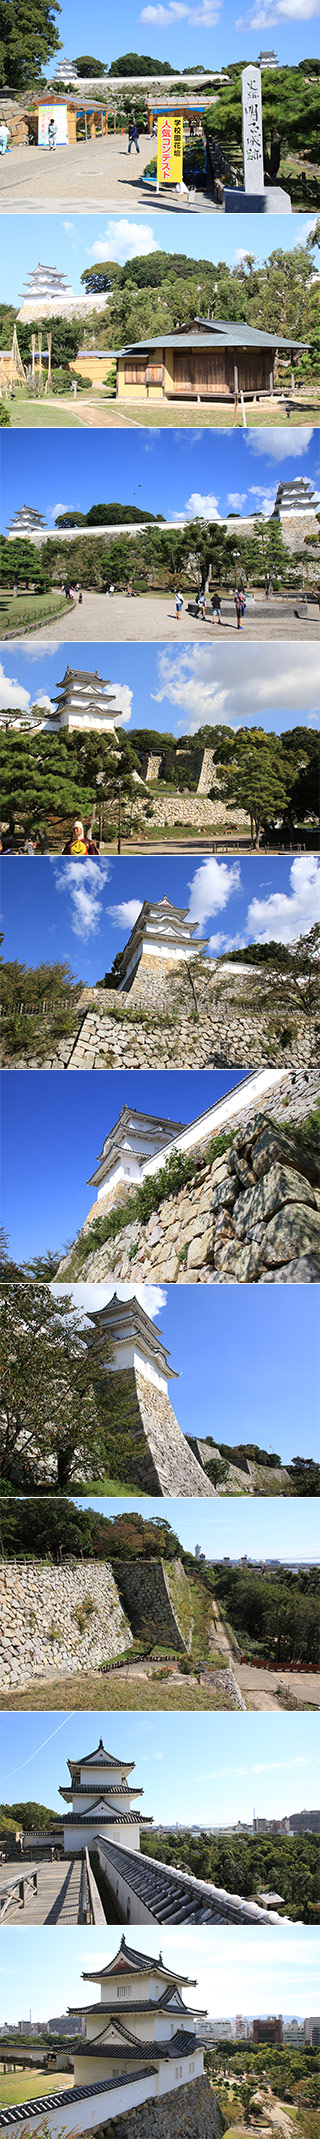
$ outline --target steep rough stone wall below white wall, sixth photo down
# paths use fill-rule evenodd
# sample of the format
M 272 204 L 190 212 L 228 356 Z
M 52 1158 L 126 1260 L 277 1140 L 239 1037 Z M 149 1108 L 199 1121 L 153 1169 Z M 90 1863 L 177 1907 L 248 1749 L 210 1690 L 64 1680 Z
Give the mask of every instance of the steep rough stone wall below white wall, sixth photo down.
M 318 1072 L 284 1078 L 269 1108 L 241 1114 L 230 1149 L 194 1153 L 194 1181 L 143 1224 L 134 1219 L 85 1260 L 85 1279 L 107 1283 L 314 1283 L 320 1277 L 318 1164 L 294 1125 L 320 1093 Z M 83 1277 L 77 1243 L 60 1277 Z

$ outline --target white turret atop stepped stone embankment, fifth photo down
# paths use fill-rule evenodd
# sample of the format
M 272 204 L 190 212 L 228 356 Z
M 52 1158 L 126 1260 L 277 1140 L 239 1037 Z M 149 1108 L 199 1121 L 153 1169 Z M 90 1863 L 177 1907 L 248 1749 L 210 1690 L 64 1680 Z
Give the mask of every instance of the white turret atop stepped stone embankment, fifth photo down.
M 143 963 L 156 967 L 188 965 L 190 958 L 198 958 L 205 950 L 205 939 L 194 943 L 196 922 L 188 920 L 188 907 L 173 907 L 171 901 L 143 901 L 141 913 L 122 952 L 122 965 L 117 973 L 117 988 L 128 992 L 132 988 L 137 969 Z

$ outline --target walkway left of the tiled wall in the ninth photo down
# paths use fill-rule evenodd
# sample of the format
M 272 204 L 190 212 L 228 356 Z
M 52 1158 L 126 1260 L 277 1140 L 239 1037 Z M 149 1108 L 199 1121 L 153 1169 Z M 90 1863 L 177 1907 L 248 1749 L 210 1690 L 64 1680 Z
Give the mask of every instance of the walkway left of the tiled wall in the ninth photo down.
M 4 1914 L 4 1927 L 6 1923 L 83 1923 L 79 1912 L 81 1859 L 75 1861 L 73 1857 L 64 1857 L 64 1863 L 23 1863 L 19 1859 L 17 1865 L 11 1865 L 11 1872 L 4 1867 L 4 1876 L 0 1878 L 2 1897 L 6 1889 L 13 1887 L 15 1878 L 28 1880 L 32 1872 L 38 1872 L 38 1891 L 34 1893 L 32 1884 L 26 1884 L 26 1902 L 21 1906 L 19 1891 L 15 1887 L 11 1906 Z

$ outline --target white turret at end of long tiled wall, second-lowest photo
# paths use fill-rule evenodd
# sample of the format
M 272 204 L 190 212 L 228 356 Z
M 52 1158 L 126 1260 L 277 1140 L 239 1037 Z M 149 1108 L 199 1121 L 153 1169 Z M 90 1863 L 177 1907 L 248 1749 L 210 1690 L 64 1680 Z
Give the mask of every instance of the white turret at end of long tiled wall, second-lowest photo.
M 128 1788 L 134 1760 L 115 1760 L 100 1739 L 94 1752 L 68 1760 L 68 1769 L 70 1784 L 60 1784 L 60 1797 L 70 1805 L 64 1855 L 73 1857 L 92 1848 L 96 1833 L 107 1833 L 109 1842 L 126 1842 L 128 1850 L 139 1850 L 141 1825 L 151 1827 L 151 1816 L 132 1812 L 132 1797 L 143 1797 L 143 1790 Z

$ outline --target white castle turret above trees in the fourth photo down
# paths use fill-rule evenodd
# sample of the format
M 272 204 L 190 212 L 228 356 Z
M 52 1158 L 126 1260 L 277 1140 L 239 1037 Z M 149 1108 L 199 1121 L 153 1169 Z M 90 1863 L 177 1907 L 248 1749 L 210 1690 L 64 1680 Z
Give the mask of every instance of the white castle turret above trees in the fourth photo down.
M 83 727 L 83 732 L 96 729 L 100 736 L 115 736 L 126 719 L 109 691 L 109 676 L 98 676 L 98 670 L 66 667 L 53 693 L 53 706 L 55 717 L 49 725 L 58 729 Z

